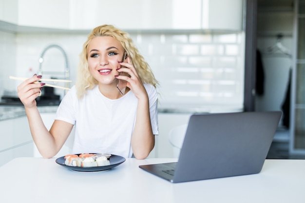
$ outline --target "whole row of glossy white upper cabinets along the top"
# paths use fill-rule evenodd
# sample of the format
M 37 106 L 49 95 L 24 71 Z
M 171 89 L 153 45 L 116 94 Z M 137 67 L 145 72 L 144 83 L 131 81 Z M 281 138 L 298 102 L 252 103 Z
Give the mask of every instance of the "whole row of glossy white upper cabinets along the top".
M 17 25 L 91 30 L 241 30 L 243 0 L 0 0 L 0 20 Z M 10 12 L 8 12 L 10 11 Z

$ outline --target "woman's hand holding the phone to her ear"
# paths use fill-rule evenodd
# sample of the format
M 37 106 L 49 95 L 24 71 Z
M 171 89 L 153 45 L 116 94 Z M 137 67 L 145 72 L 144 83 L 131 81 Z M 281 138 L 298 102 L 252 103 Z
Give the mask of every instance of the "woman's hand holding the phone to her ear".
M 125 73 L 129 74 L 130 77 L 119 75 L 119 76 L 116 76 L 116 78 L 120 79 L 120 80 L 126 80 L 127 87 L 133 91 L 134 95 L 138 99 L 143 98 L 143 97 L 147 98 L 148 95 L 147 95 L 146 89 L 145 89 L 142 81 L 140 80 L 139 75 L 137 74 L 133 64 L 131 63 L 130 58 L 127 57 L 127 63 L 121 62 L 120 65 L 125 66 L 125 67 L 122 67 L 122 68 L 118 69 L 117 71 L 125 72 Z

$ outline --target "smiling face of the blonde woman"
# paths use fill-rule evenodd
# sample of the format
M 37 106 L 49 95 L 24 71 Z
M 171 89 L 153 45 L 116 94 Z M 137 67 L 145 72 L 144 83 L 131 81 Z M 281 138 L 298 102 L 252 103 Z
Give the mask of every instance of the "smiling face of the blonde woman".
M 93 38 L 88 47 L 88 64 L 92 76 L 101 85 L 115 85 L 124 49 L 121 43 L 110 36 Z

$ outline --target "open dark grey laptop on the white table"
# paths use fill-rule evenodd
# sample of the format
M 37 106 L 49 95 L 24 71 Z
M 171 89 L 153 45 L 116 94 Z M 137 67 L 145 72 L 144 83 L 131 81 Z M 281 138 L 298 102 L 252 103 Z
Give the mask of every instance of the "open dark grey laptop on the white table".
M 178 162 L 140 168 L 172 183 L 259 173 L 281 111 L 192 114 Z

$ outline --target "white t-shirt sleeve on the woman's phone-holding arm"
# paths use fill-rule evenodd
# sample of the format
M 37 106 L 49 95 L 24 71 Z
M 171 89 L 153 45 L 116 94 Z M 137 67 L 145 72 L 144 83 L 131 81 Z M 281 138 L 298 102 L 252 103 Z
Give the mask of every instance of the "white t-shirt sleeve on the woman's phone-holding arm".
M 152 133 L 154 135 L 159 134 L 158 129 L 158 93 L 154 86 L 145 85 L 148 97 L 149 97 L 149 108 L 152 123 Z

